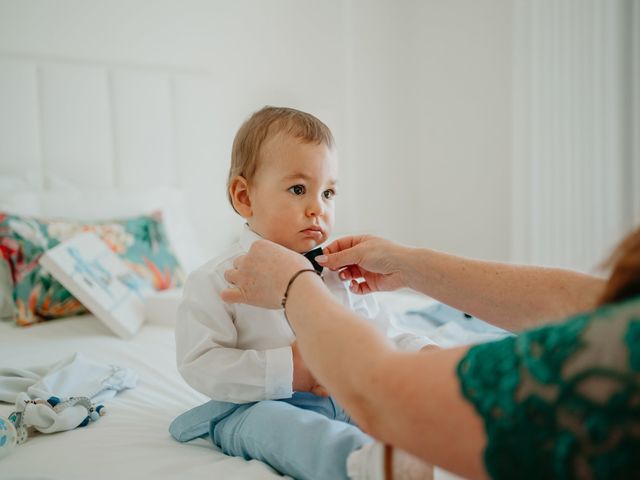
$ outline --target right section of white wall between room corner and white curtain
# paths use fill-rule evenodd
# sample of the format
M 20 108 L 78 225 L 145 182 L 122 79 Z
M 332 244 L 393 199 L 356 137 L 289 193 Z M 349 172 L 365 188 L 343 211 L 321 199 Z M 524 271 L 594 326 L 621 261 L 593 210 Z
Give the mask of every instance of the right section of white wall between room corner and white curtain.
M 507 260 L 511 3 L 354 2 L 358 228 Z

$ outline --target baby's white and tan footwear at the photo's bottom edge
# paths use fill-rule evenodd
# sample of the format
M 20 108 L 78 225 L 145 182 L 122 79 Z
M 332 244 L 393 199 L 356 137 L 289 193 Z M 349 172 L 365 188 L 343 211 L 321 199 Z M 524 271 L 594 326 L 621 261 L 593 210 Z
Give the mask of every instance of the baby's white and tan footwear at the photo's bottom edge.
M 417 457 L 394 448 L 391 479 L 385 479 L 385 446 L 369 443 L 347 458 L 347 475 L 352 480 L 431 480 L 433 467 Z

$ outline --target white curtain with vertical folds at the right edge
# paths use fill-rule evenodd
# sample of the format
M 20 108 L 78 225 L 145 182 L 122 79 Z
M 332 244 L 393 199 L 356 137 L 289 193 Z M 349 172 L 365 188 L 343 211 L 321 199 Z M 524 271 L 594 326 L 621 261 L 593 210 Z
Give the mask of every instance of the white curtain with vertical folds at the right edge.
M 515 0 L 513 259 L 583 271 L 640 225 L 640 0 Z

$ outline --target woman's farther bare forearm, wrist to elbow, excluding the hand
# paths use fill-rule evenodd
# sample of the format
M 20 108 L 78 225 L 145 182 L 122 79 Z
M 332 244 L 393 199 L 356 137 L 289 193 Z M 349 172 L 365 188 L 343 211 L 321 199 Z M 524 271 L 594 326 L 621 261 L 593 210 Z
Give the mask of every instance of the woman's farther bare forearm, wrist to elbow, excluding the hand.
M 509 330 L 592 309 L 603 279 L 557 268 L 472 260 L 429 249 L 398 252 L 414 290 Z

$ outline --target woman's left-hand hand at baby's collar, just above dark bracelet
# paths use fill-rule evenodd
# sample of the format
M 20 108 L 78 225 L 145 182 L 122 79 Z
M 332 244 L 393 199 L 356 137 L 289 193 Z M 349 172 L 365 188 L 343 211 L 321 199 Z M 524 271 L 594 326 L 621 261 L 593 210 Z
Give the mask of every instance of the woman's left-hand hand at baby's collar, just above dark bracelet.
M 220 293 L 222 300 L 274 310 L 281 308 L 291 277 L 298 270 L 312 268 L 304 256 L 268 240 L 254 242 L 249 253 L 237 257 L 233 266 L 224 272 L 233 287 Z

